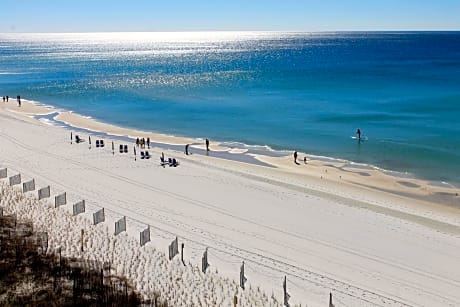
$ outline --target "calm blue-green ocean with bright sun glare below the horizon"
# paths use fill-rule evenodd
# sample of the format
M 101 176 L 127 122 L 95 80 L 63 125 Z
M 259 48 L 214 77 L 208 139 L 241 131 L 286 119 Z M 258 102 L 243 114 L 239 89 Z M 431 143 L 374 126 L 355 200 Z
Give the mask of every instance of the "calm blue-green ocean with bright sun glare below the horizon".
M 460 182 L 460 32 L 0 34 L 0 92 Z

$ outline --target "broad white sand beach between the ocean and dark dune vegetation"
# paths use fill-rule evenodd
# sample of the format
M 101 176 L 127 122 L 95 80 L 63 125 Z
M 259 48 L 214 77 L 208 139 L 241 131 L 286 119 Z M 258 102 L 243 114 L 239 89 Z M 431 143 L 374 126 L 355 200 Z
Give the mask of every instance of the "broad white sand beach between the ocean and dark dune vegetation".
M 269 298 L 272 295 L 282 303 L 286 276 L 289 302 L 302 306 L 327 306 L 329 293 L 335 306 L 460 306 L 458 189 L 346 162 L 309 158 L 304 164 L 305 153 L 299 154 L 299 164 L 293 163 L 292 156 L 256 156 L 272 167 L 219 159 L 212 153 L 186 156 L 160 148 L 149 150 L 151 159 L 137 157 L 135 161 L 133 143 L 127 154 L 118 153 L 118 145 L 126 142 L 116 138 L 114 154 L 109 146 L 111 138 L 104 138 L 104 148 L 96 148 L 93 141 L 90 149 L 88 134 L 78 133 L 86 142 L 71 144 L 69 130 L 31 117 L 54 111 L 27 101 L 21 108 L 14 102 L 0 102 L 0 169 L 7 168 L 8 176 L 21 173 L 23 181 L 34 178 L 38 187 L 50 185 L 52 196 L 66 192 L 68 205 L 49 208 L 46 214 L 50 216 L 55 211 L 59 213 L 54 217 L 70 215 L 71 204 L 81 199 L 87 203 L 82 216 L 88 221 L 99 208 L 107 210 L 104 225 L 68 221 L 68 229 L 59 226 L 61 241 L 52 240 L 54 248 L 62 241 L 77 240 L 75 234 L 81 227 L 99 227 L 95 236 L 108 236 L 103 227 L 113 233 L 114 221 L 126 216 L 128 235 L 123 234 L 120 241 L 128 243 L 116 248 L 113 264 L 130 278 L 142 276 L 136 286 L 144 294 L 151 289 L 149 280 L 169 278 L 169 283 L 162 283 L 163 291 L 175 285 L 189 287 L 188 299 L 185 294 L 180 299 L 175 296 L 179 305 L 199 305 L 196 296 L 203 295 L 207 298 L 201 305 L 216 302 L 231 306 L 232 298 L 224 296 L 237 291 L 244 261 L 248 281 L 247 293 L 242 295 L 244 291 L 238 290 L 243 297 L 241 305 L 277 305 Z M 113 135 L 148 136 L 158 143 L 185 145 L 196 141 L 119 128 L 70 112 L 61 113 L 57 120 Z M 233 150 L 214 142 L 211 147 Z M 161 167 L 161 152 L 178 159 L 180 165 Z M 2 189 L 9 189 L 7 179 L 1 180 Z M 9 204 L 6 213 L 15 210 L 12 202 Z M 30 212 L 21 207 L 17 213 L 37 219 L 39 228 L 52 227 L 46 216 Z M 50 217 L 53 223 L 56 219 Z M 146 225 L 151 226 L 152 242 L 140 248 L 136 240 Z M 182 265 L 178 259 L 159 265 L 167 261 L 161 253 L 167 255 L 175 236 L 185 244 L 187 264 L 201 267 L 202 254 L 208 248 L 210 271 L 217 270 L 218 274 L 195 285 L 198 279 L 192 269 L 184 273 L 182 268 L 175 268 Z M 95 252 L 96 243 L 103 241 L 94 240 L 92 255 L 110 260 L 113 249 L 104 245 Z M 78 254 L 78 242 L 66 246 L 69 255 Z M 143 252 L 147 248 L 159 253 Z M 120 255 L 124 253 L 139 256 L 123 258 Z M 161 270 L 172 270 L 174 277 L 139 274 L 142 268 L 134 263 L 136 257 L 143 259 L 142 265 L 149 263 L 147 270 L 160 270 L 154 266 L 158 264 Z M 165 260 L 154 260 L 158 257 Z M 129 262 L 122 263 L 121 259 Z M 130 266 L 133 268 L 127 268 Z M 210 285 L 220 280 L 217 275 L 227 280 L 219 281 L 219 286 Z M 198 290 L 193 290 L 195 287 Z M 228 289 L 217 291 L 216 287 Z M 256 290 L 258 287 L 264 294 Z

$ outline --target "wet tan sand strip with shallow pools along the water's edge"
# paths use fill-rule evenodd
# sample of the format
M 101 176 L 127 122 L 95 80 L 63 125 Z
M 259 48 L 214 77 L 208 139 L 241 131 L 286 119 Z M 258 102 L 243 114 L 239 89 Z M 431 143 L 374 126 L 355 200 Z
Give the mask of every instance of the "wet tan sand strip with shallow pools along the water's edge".
M 1 108 L 10 112 L 26 115 L 33 120 L 36 117 L 57 114 L 53 120 L 57 124 L 64 123 L 69 127 L 65 129 L 81 129 L 87 133 L 101 133 L 112 139 L 126 138 L 133 141 L 137 136 L 150 137 L 152 147 L 159 147 L 165 150 L 183 152 L 185 144 L 190 144 L 190 151 L 198 155 L 206 155 L 204 139 L 172 136 L 157 132 L 141 131 L 131 128 L 119 127 L 113 124 L 99 122 L 91 117 L 83 116 L 73 111 L 59 110 L 50 105 L 36 103 L 34 101 L 22 100 L 19 108 L 15 100 L 8 103 L 1 103 Z M 50 124 L 50 123 L 48 123 Z M 51 123 L 51 125 L 55 125 Z M 439 204 L 447 207 L 460 209 L 460 189 L 451 183 L 442 181 L 430 181 L 417 178 L 412 174 L 384 170 L 379 167 L 353 161 L 337 159 L 325 156 L 314 156 L 308 153 L 299 152 L 298 165 L 293 163 L 291 153 L 286 155 L 274 154 L 273 156 L 264 153 L 251 153 L 237 147 L 229 147 L 225 144 L 235 142 L 214 142 L 211 140 L 210 156 L 224 160 L 232 160 L 258 166 L 269 166 L 281 171 L 296 175 L 305 175 L 310 178 L 318 178 L 334 183 L 346 183 L 355 187 L 364 187 L 374 191 L 385 192 L 401 197 L 414 198 L 419 201 Z M 245 145 L 242 143 L 238 143 Z M 246 145 L 251 147 L 250 145 Z M 258 146 L 263 147 L 263 146 Z M 268 150 L 267 150 L 268 151 Z M 274 151 L 276 153 L 284 151 Z M 303 157 L 307 157 L 307 164 Z M 249 159 L 248 159 L 249 157 Z

